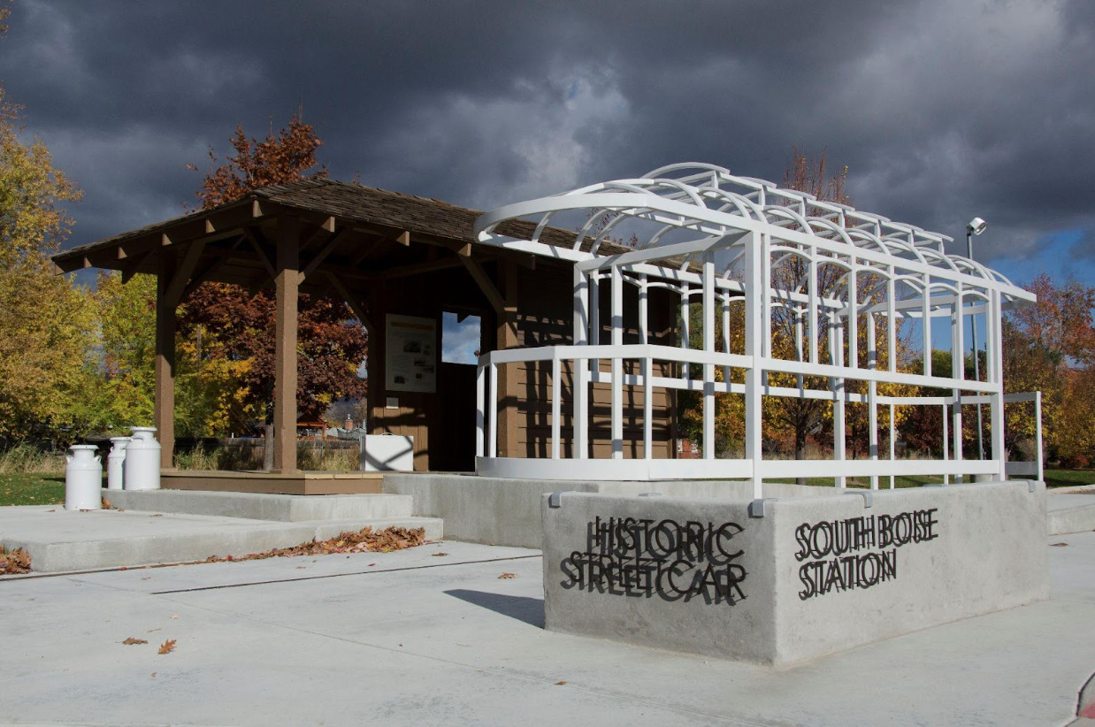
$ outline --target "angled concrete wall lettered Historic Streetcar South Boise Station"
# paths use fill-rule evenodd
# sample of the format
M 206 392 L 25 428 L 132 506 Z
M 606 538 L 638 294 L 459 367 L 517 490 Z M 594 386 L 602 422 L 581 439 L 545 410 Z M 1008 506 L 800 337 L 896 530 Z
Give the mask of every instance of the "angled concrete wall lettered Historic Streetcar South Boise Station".
M 552 631 L 786 665 L 1049 596 L 1041 484 L 780 499 L 763 517 L 725 499 L 558 505 L 542 501 Z

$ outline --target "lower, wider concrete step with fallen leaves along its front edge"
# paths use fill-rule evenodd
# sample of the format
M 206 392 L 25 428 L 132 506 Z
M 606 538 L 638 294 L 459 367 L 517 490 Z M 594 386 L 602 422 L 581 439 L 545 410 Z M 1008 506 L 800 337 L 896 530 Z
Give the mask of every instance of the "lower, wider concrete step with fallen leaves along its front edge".
M 60 506 L 0 508 L 0 544 L 23 547 L 35 573 L 233 557 L 325 540 L 370 526 L 425 528 L 427 540 L 443 536 L 439 518 L 359 518 L 269 521 L 139 510 L 65 510 Z

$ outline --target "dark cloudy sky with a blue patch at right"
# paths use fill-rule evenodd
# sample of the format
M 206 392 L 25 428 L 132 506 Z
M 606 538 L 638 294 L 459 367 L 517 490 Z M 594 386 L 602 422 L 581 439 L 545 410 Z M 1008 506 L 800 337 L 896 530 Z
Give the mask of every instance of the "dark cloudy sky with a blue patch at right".
M 68 245 L 176 217 L 237 125 L 491 209 L 675 162 L 855 207 L 1013 281 L 1095 285 L 1095 2 L 15 0 L 0 84 L 83 189 Z M 196 164 L 197 171 L 187 169 Z

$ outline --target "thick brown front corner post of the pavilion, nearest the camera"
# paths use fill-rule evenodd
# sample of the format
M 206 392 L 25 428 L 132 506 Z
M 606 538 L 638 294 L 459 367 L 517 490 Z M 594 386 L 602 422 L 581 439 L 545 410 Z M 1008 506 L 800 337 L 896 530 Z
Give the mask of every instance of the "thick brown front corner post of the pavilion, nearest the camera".
M 274 277 L 274 469 L 297 471 L 297 298 L 300 284 L 300 222 L 281 217 L 277 223 L 277 267 Z

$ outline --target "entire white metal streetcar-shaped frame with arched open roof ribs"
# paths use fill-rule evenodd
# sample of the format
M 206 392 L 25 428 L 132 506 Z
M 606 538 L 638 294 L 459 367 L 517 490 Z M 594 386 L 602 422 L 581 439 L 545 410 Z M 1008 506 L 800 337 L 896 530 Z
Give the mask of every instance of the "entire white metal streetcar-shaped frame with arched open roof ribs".
M 495 232 L 512 219 L 533 221 L 534 232 L 525 240 Z M 542 242 L 549 226 L 578 229 L 573 246 Z M 693 163 L 508 205 L 483 215 L 475 234 L 483 244 L 574 263 L 573 345 L 497 350 L 480 358 L 480 474 L 752 478 L 758 496 L 763 480 L 777 477 L 831 476 L 837 485 L 851 476 L 869 477 L 877 488 L 879 477 L 889 476 L 892 486 L 894 475 L 899 474 L 941 475 L 944 481 L 1005 476 L 1001 315 L 1007 307 L 1035 297 L 972 259 L 946 254 L 944 243 L 950 240 L 946 235 Z M 624 235 L 634 235 L 639 244 L 620 254 L 599 252 L 606 240 Z M 610 289 L 608 311 L 600 304 L 603 286 Z M 637 295 L 625 297 L 624 286 L 633 286 Z M 668 288 L 680 297 L 677 346 L 648 343 L 647 300 L 654 288 Z M 632 303 L 637 304 L 637 344 L 624 344 L 625 299 L 637 301 Z M 736 316 L 735 305 L 744 307 Z M 696 307 L 700 314 L 694 313 Z M 702 320 L 698 348 L 690 348 L 693 318 Z M 740 322 L 738 333 L 744 335 L 735 335 L 731 321 Z M 983 332 L 983 381 L 966 378 L 965 372 L 972 325 Z M 609 339 L 602 341 L 606 335 Z M 912 346 L 899 343 L 902 335 Z M 949 344 L 941 346 L 941 339 Z M 949 348 L 948 370 L 933 370 L 933 348 Z M 550 459 L 498 457 L 497 372 L 499 367 L 530 361 L 550 362 L 553 382 L 562 382 L 564 364 L 573 371 L 567 403 L 573 407 L 568 412 L 573 427 L 563 431 L 563 386 L 552 385 Z M 625 371 L 625 361 L 635 372 Z M 672 373 L 656 374 L 666 370 Z M 693 376 L 701 370 L 702 377 Z M 589 446 L 590 386 L 597 383 L 611 390 L 608 458 L 593 458 Z M 624 388 L 643 392 L 638 458 L 624 458 Z M 930 389 L 947 393 L 926 395 Z M 653 455 L 656 390 L 700 393 L 702 459 Z M 716 457 L 719 395 L 744 397 L 744 457 Z M 831 402 L 832 458 L 765 459 L 765 396 Z M 1029 401 L 1024 395 L 1012 399 Z M 867 409 L 867 459 L 846 455 L 850 404 Z M 943 459 L 898 458 L 895 407 L 908 405 L 941 407 Z M 981 405 L 989 409 L 991 454 L 965 459 L 963 407 Z M 888 414 L 888 451 L 879 449 L 880 413 L 884 418 Z M 573 438 L 570 458 L 562 457 L 564 436 Z

